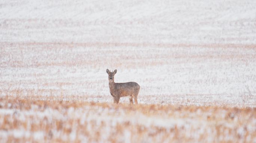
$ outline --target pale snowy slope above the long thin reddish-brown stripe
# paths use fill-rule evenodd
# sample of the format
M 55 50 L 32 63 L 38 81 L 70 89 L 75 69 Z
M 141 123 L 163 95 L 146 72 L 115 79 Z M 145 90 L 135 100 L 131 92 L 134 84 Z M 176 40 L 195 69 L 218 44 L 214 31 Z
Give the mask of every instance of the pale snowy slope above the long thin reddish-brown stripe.
M 254 0 L 2 0 L 1 41 L 256 44 Z

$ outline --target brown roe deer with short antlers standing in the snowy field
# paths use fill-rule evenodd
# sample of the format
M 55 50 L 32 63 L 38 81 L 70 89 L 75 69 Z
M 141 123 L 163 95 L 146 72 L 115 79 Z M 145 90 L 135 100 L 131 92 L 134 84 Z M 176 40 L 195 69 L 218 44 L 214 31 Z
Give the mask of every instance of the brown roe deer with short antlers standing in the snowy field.
M 118 104 L 122 96 L 129 96 L 130 104 L 133 104 L 132 98 L 135 104 L 138 104 L 137 96 L 140 91 L 140 85 L 136 82 L 115 83 L 114 76 L 116 72 L 117 70 L 110 72 L 109 69 L 107 69 L 107 74 L 109 74 L 109 90 L 110 94 L 113 96 L 114 103 Z

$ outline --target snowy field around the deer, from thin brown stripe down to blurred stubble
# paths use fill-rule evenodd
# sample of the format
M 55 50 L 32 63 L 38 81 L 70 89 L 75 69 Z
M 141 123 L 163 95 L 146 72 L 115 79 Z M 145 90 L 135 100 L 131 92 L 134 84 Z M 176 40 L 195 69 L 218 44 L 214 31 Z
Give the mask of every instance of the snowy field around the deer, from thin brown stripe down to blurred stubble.
M 140 84 L 142 104 L 256 106 L 253 46 L 4 45 L 8 48 L 1 50 L 2 96 L 112 102 L 108 68 L 118 70 L 116 82 Z

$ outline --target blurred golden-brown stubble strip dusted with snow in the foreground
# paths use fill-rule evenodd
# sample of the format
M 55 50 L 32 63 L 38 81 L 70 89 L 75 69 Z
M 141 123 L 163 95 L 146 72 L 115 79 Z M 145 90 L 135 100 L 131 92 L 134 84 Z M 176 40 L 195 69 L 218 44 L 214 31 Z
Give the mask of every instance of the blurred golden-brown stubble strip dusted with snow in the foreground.
M 255 142 L 256 109 L 0 98 L 3 142 Z

